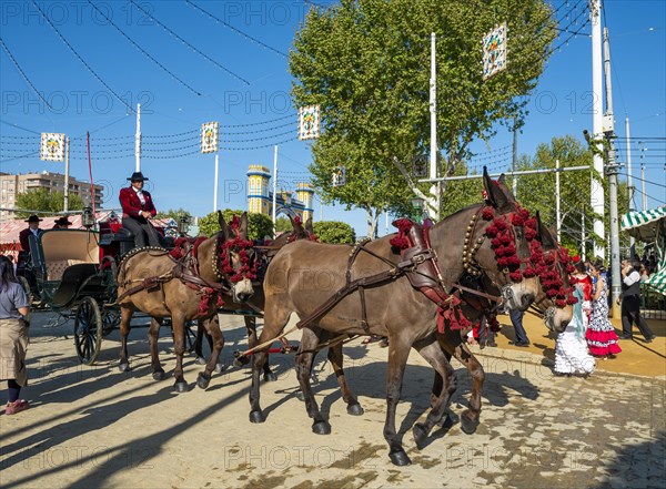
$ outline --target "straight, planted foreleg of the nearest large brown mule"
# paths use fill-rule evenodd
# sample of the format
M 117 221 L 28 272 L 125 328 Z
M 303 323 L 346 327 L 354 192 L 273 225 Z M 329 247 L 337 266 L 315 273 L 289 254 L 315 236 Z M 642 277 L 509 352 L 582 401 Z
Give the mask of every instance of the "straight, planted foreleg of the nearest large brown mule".
M 389 458 L 393 465 L 406 466 L 412 463 L 410 457 L 397 439 L 395 430 L 395 409 L 402 393 L 402 381 L 410 356 L 411 345 L 398 335 L 389 335 L 389 368 L 386 371 L 386 421 L 384 439 L 389 444 Z

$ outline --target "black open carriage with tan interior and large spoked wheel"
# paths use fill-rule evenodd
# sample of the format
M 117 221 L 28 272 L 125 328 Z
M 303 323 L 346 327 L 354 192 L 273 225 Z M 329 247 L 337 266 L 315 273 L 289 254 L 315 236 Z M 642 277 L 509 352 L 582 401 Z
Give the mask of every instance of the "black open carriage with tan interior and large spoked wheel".
M 169 246 L 171 240 L 163 238 Z M 105 222 L 98 231 L 46 230 L 29 243 L 30 254 L 18 274 L 30 291 L 33 310 L 73 319 L 77 356 L 93 365 L 103 337 L 120 323 L 115 273 L 120 257 L 134 246 L 133 236 L 119 223 Z M 188 327 L 190 345 L 194 336 Z

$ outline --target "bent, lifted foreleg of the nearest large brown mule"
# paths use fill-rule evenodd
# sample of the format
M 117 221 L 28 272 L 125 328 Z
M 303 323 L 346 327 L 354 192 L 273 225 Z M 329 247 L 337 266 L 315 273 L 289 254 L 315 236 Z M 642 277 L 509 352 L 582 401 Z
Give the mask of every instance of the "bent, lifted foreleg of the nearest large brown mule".
M 457 388 L 457 379 L 435 338 L 431 337 L 416 342 L 414 348 L 428 364 L 431 364 L 442 379 L 442 388 L 440 388 L 438 397 L 432 403 L 432 408 L 425 422 L 416 422 L 412 429 L 416 447 L 421 450 L 425 446 L 425 441 L 433 427 L 443 418 L 444 410 L 448 406 L 448 401 Z

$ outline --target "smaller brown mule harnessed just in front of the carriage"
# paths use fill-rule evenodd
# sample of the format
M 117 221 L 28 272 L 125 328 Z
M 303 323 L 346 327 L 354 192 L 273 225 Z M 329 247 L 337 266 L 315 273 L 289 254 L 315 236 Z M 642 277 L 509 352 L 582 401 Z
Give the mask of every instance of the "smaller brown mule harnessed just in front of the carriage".
M 224 297 L 234 302 L 248 300 L 253 294 L 252 266 L 255 259 L 251 242 L 248 241 L 248 215 L 232 226 L 218 213 L 220 228 L 215 236 L 202 238 L 186 256 L 175 259 L 162 248 L 147 247 L 130 252 L 119 265 L 118 304 L 121 308 L 121 371 L 130 367 L 128 359 L 128 335 L 135 310 L 152 317 L 149 329 L 151 366 L 153 378 L 161 379 L 164 370 L 158 356 L 158 333 L 165 317 L 171 317 L 176 365 L 173 371 L 175 390 L 188 390 L 183 377 L 182 361 L 185 352 L 184 324 L 189 320 L 203 322 L 213 336 L 213 352 L 198 384 L 205 388 L 215 368 L 223 346 L 216 319 L 218 308 Z

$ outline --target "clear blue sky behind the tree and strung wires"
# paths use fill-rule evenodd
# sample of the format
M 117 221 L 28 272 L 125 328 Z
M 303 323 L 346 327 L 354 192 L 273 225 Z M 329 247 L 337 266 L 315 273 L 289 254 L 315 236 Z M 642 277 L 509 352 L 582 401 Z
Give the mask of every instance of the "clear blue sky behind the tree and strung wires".
M 245 208 L 248 165 L 272 167 L 273 144 L 278 142 L 279 182 L 293 189 L 297 181 L 307 180 L 310 143 L 296 139 L 296 110 L 290 103 L 291 78 L 284 53 L 310 4 L 300 0 L 192 0 L 216 18 L 212 19 L 186 1 L 137 2 L 213 62 L 131 3 L 95 1 L 98 11 L 88 1 L 38 2 L 104 86 L 31 1 L 0 3 L 2 40 L 52 108 L 46 106 L 2 51 L 1 171 L 63 172 L 62 163 L 42 162 L 31 155 L 38 151 L 40 132 L 61 132 L 73 139 L 71 175 L 87 180 L 82 136 L 90 131 L 93 179 L 109 195 L 104 206 L 117 207 L 118 192 L 134 170 L 135 131 L 135 116 L 128 113 L 117 94 L 132 106 L 142 103 L 141 170 L 150 177 L 148 187 L 160 208 L 184 207 L 195 215 L 213 210 L 214 156 L 198 153 L 196 139 L 201 123 L 208 121 L 220 122 L 222 140 L 226 141 L 221 143 L 226 149 L 220 151 L 221 207 Z M 532 94 L 531 114 L 518 139 L 521 153 L 532 154 L 538 143 L 553 136 L 582 137 L 584 129 L 592 130 L 591 29 L 585 26 L 586 13 L 577 17 L 586 3 L 553 2 L 561 14 L 571 11 L 569 21 L 578 19 L 567 29 L 578 35 L 553 54 Z M 666 142 L 650 139 L 666 136 L 666 2 L 606 1 L 604 12 L 610 32 L 616 132 L 625 135 L 624 119 L 628 115 L 632 136 L 644 140 L 642 145 L 637 140 L 632 142 L 634 175 L 639 176 L 643 155 L 645 180 L 657 184 L 647 183 L 645 189 L 652 207 L 666 201 Z M 123 38 L 108 19 L 163 68 Z M 554 45 L 567 38 L 569 33 L 563 32 Z M 160 137 L 167 135 L 170 137 Z M 473 147 L 480 153 L 476 162 L 493 170 L 508 169 L 511 151 L 505 147 L 511 140 L 501 129 L 490 144 L 475 143 Z M 619 146 L 618 159 L 625 162 L 624 142 Z M 494 153 L 483 154 L 490 151 Z M 27 154 L 30 156 L 17 157 Z M 640 182 L 634 183 L 640 190 Z M 639 194 L 637 202 L 640 205 Z M 321 213 L 317 200 L 315 217 Z M 366 232 L 363 212 L 325 206 L 323 217 L 347 222 L 359 235 Z M 380 233 L 384 232 L 382 218 Z

